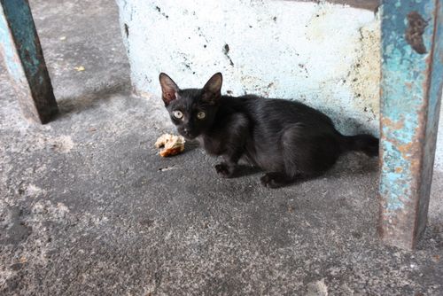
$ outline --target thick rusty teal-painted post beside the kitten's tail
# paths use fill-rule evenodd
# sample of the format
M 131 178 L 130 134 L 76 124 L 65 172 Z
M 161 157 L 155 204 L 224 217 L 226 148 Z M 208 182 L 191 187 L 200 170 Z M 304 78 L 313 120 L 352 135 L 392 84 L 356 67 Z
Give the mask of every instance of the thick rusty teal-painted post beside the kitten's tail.
M 379 233 L 413 249 L 424 232 L 443 82 L 442 0 L 382 4 Z

